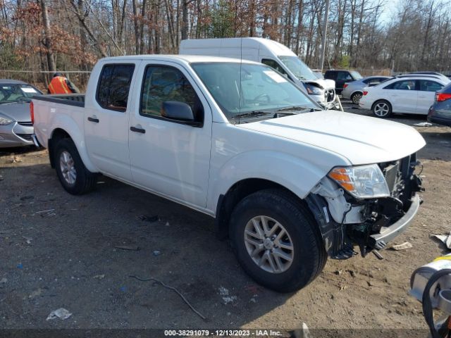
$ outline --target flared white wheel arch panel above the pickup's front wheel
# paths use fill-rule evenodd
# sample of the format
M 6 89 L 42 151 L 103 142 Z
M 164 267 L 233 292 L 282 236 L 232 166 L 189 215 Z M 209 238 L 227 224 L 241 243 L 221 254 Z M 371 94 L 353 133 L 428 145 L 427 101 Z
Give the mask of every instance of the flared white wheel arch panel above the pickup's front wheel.
M 221 168 L 213 169 L 207 208 L 216 211 L 219 196 L 226 194 L 236 182 L 249 178 L 269 180 L 289 189 L 304 199 L 330 168 L 280 151 L 247 151 L 230 158 Z

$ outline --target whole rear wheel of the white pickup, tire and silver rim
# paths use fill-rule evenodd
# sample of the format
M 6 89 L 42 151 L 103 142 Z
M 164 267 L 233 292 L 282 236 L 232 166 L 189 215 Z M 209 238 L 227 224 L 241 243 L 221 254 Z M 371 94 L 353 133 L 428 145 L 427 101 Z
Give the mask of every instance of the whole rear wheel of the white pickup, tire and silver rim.
M 54 154 L 56 174 L 68 193 L 80 195 L 94 188 L 97 175 L 87 170 L 71 139 L 60 139 Z

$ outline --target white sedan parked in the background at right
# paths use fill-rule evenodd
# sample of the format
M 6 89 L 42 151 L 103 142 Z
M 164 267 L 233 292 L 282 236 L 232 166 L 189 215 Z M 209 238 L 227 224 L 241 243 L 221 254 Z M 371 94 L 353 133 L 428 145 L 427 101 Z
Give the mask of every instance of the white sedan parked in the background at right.
M 378 118 L 388 118 L 392 113 L 426 115 L 435 92 L 447 83 L 438 77 L 395 77 L 364 88 L 359 107 L 373 111 Z

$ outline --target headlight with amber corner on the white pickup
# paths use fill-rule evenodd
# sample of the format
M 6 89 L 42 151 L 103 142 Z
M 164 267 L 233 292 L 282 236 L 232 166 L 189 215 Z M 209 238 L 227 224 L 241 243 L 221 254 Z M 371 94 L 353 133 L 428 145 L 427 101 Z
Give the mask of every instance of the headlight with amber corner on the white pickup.
M 387 182 L 377 164 L 336 167 L 328 176 L 357 199 L 390 196 Z

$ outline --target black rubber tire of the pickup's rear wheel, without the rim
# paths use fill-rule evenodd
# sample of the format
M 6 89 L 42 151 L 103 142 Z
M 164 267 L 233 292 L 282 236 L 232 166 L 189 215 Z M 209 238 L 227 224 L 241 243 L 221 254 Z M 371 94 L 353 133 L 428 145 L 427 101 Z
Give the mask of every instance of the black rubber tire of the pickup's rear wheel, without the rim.
M 60 158 L 64 151 L 70 154 L 73 160 L 73 166 L 75 167 L 76 177 L 73 183 L 68 182 L 64 178 L 63 168 L 61 168 Z M 54 154 L 56 175 L 58 175 L 59 182 L 66 189 L 66 192 L 73 195 L 81 195 L 94 189 L 97 182 L 97 174 L 87 170 L 72 139 L 60 139 L 55 145 Z

